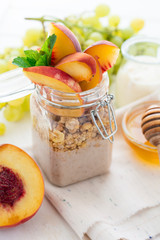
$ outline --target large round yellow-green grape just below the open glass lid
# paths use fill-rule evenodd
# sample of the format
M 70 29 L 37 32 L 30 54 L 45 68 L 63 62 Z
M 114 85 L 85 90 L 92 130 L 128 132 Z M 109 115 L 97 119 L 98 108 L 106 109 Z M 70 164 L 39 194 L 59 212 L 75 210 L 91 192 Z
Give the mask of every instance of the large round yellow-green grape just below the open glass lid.
M 7 105 L 3 111 L 3 115 L 7 121 L 16 122 L 24 116 L 24 112 L 22 106 L 12 107 L 10 105 Z

